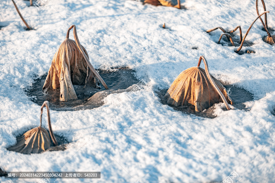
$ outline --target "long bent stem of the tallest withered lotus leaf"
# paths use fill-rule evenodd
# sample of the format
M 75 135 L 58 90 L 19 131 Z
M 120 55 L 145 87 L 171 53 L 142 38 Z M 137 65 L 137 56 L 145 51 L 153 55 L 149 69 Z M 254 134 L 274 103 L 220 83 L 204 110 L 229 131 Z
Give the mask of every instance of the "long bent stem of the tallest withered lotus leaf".
M 99 81 L 103 84 L 104 88 L 106 90 L 108 90 L 108 86 L 107 84 L 104 82 L 104 80 L 101 78 L 101 76 L 97 73 L 97 71 L 94 69 L 94 67 L 92 66 L 92 64 L 90 63 L 89 61 L 89 58 L 86 56 L 86 54 L 84 53 L 84 50 L 82 49 L 82 46 L 80 45 L 80 42 L 79 42 L 79 39 L 77 37 L 77 33 L 76 33 L 76 27 L 75 25 L 71 25 L 71 27 L 69 27 L 68 31 L 67 31 L 67 35 L 66 35 L 66 38 L 69 38 L 69 32 L 70 30 L 73 29 L 73 33 L 74 33 L 74 37 L 75 37 L 75 42 L 76 42 L 76 45 L 77 47 L 79 48 L 80 52 L 82 53 L 87 65 L 89 66 L 89 68 L 92 70 L 92 72 L 96 75 L 96 77 L 99 79 Z

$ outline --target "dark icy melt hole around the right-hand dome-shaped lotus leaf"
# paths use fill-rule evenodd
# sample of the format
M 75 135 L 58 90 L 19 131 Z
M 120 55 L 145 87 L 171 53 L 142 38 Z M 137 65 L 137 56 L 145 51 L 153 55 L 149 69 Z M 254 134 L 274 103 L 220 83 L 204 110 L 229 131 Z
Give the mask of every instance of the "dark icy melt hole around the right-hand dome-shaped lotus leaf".
M 231 99 L 235 103 L 233 106 L 236 107 L 237 109 L 248 110 L 247 108 L 245 108 L 244 102 L 253 100 L 254 99 L 253 94 L 250 93 L 249 91 L 246 91 L 243 88 L 233 86 L 231 84 L 223 83 L 222 81 L 220 81 L 220 82 L 226 88 L 228 95 L 231 97 Z M 195 114 L 196 116 L 200 116 L 200 117 L 207 117 L 207 118 L 215 118 L 216 117 L 214 115 L 214 106 L 211 106 L 210 108 L 205 109 L 204 111 L 198 113 L 198 112 L 194 111 L 194 109 L 195 109 L 194 106 L 178 106 L 177 107 L 177 106 L 167 104 L 167 100 L 164 99 L 164 97 L 163 97 L 165 95 L 165 93 L 167 92 L 167 90 L 168 89 L 156 91 L 162 104 L 169 105 L 174 110 L 182 111 L 182 112 L 188 113 L 188 114 Z M 224 107 L 223 110 L 226 110 L 226 108 Z

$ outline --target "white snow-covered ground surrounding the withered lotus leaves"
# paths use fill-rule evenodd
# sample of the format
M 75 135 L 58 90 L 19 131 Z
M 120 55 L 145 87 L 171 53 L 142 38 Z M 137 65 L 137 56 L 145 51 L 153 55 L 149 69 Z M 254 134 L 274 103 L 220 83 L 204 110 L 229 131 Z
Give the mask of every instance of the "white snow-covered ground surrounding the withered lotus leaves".
M 243 183 L 275 182 L 275 47 L 263 42 L 267 34 L 259 20 L 246 39 L 254 45 L 243 48 L 255 54 L 238 55 L 236 47 L 215 43 L 221 31 L 210 35 L 205 30 L 241 25 L 245 33 L 257 17 L 255 0 L 221 1 L 226 12 L 219 2 L 186 0 L 186 9 L 179 10 L 133 0 L 49 0 L 38 11 L 28 7 L 28 1 L 16 0 L 35 28 L 26 31 L 13 3 L 1 1 L 0 26 L 6 27 L 0 30 L 0 167 L 101 171 L 101 179 L 57 182 L 210 183 L 222 182 L 233 171 Z M 268 25 L 275 29 L 274 1 L 266 0 L 266 7 Z M 71 24 L 95 68 L 127 66 L 148 84 L 138 95 L 130 94 L 132 101 L 123 92 L 108 95 L 104 106 L 92 110 L 51 110 L 53 130 L 71 142 L 65 151 L 10 152 L 6 148 L 16 143 L 18 134 L 39 124 L 40 106 L 24 90 L 47 73 Z M 213 76 L 254 95 L 255 100 L 246 103 L 250 110 L 224 111 L 220 103 L 215 105 L 218 117 L 209 119 L 160 102 L 155 91 L 169 88 L 178 74 L 197 65 L 201 55 Z

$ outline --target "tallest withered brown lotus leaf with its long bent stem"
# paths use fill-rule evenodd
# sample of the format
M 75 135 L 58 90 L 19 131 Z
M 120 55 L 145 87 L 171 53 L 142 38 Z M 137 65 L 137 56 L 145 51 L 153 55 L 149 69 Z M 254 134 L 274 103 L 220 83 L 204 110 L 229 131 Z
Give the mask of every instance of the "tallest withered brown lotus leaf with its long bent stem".
M 69 39 L 69 32 L 72 28 L 74 28 L 75 41 Z M 42 90 L 60 88 L 60 101 L 68 101 L 77 99 L 73 84 L 100 88 L 99 81 L 108 89 L 90 63 L 86 49 L 79 43 L 75 25 L 72 25 L 67 31 L 66 39 L 53 56 Z

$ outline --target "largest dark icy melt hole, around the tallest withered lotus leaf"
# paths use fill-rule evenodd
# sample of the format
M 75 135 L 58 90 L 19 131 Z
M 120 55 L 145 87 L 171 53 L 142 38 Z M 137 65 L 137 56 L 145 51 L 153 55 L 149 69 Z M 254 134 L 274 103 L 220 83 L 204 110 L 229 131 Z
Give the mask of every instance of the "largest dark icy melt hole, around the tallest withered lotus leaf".
M 78 99 L 67 102 L 59 101 L 60 89 L 50 89 L 42 92 L 47 74 L 35 80 L 34 84 L 26 90 L 32 102 L 41 106 L 45 100 L 49 101 L 50 109 L 57 111 L 83 110 L 100 107 L 104 104 L 102 99 L 111 93 L 122 93 L 131 91 L 133 84 L 138 80 L 134 77 L 134 70 L 128 68 L 119 68 L 112 70 L 97 70 L 99 75 L 107 84 L 109 90 L 106 90 L 102 84 L 101 88 L 86 87 L 82 85 L 73 85 Z

